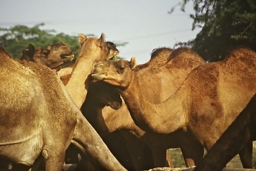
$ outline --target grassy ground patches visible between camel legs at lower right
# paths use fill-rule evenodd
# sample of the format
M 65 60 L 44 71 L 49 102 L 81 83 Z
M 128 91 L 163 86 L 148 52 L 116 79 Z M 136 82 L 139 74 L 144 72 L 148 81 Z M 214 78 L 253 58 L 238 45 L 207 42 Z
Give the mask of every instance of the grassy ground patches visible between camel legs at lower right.
M 169 149 L 169 154 L 172 158 L 172 163 L 174 167 L 186 167 L 180 149 Z M 227 167 L 243 168 L 238 154 L 229 161 Z M 256 142 L 253 142 L 253 168 L 256 168 Z

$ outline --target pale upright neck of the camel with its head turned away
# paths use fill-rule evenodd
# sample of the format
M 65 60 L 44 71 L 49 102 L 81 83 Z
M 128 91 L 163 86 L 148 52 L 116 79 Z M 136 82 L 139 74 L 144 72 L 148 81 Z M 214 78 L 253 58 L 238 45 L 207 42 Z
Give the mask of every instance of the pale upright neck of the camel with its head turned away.
M 93 60 L 79 57 L 66 85 L 68 93 L 78 108 L 81 108 L 86 98 L 87 80 L 92 71 L 93 63 Z

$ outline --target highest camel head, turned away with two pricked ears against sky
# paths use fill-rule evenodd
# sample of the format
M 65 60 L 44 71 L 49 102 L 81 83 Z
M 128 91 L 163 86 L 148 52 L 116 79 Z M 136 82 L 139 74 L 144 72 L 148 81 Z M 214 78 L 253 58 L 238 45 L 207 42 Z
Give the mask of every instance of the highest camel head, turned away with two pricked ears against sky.
M 104 61 L 108 60 L 110 47 L 108 47 L 108 43 L 105 41 L 105 35 L 102 33 L 100 38 L 90 37 L 88 38 L 85 34 L 80 34 L 79 43 L 81 45 L 79 51 L 79 59 L 96 57 L 93 61 Z

